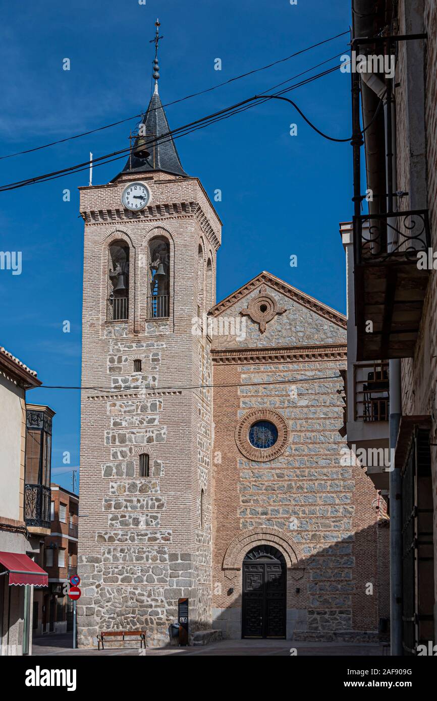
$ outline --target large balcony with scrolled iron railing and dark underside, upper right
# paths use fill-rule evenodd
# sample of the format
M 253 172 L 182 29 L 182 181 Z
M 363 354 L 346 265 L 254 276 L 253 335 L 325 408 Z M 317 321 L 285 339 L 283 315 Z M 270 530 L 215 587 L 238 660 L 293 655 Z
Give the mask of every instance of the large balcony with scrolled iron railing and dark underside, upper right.
M 429 270 L 427 210 L 354 217 L 356 360 L 412 358 Z

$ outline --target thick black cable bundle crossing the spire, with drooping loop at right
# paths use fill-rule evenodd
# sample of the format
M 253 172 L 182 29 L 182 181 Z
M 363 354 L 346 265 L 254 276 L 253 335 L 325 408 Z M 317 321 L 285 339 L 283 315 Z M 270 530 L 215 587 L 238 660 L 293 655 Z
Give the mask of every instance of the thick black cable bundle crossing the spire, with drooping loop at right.
M 328 59 L 332 60 L 332 59 Z M 322 72 L 320 74 L 316 74 L 316 76 L 311 76 L 305 81 L 300 81 L 300 83 L 297 83 L 295 86 L 289 86 L 288 88 L 285 88 L 281 91 L 278 92 L 277 95 L 283 95 L 283 93 L 287 93 L 290 90 L 295 90 L 295 88 L 301 87 L 303 85 L 306 85 L 307 83 L 311 83 L 312 81 L 321 78 L 325 75 L 328 75 L 334 71 L 336 71 L 339 68 L 339 66 L 334 66 L 330 69 L 327 69 L 325 72 Z M 307 72 L 307 71 L 305 71 Z M 293 79 L 288 79 L 288 80 L 293 80 Z M 284 81 L 288 82 L 288 81 Z M 281 83 L 280 83 L 281 84 Z M 249 109 L 250 107 L 253 107 L 253 104 L 248 104 L 251 102 L 256 101 L 256 104 L 262 104 L 262 102 L 266 102 L 267 100 L 272 99 L 272 97 L 276 97 L 276 95 L 264 95 L 264 93 L 260 93 L 260 95 L 253 95 L 253 97 L 249 97 L 246 100 L 242 100 L 241 102 L 237 102 L 234 105 L 231 105 L 230 107 L 226 107 L 220 111 L 217 111 L 213 114 L 210 114 L 208 116 L 202 117 L 194 122 L 191 122 L 187 125 L 184 125 L 182 127 L 178 127 L 175 130 L 170 130 L 169 132 L 166 132 L 165 134 L 159 136 L 159 137 L 154 137 L 153 139 L 147 140 L 147 145 L 159 145 L 159 144 L 165 144 L 167 141 L 170 141 L 171 139 L 177 139 L 181 136 L 186 136 L 187 134 L 194 132 L 196 130 L 199 130 L 201 128 L 205 128 L 206 126 L 209 126 L 210 124 L 213 124 L 217 121 L 221 121 L 222 118 L 229 118 L 229 116 L 233 116 L 234 114 L 238 114 L 240 111 L 245 111 L 246 109 Z M 300 111 L 299 108 L 297 108 L 297 105 L 295 105 L 294 102 L 289 100 L 291 104 L 293 104 L 293 107 L 296 107 L 298 111 Z M 246 106 L 246 107 L 243 107 Z M 378 106 L 379 110 L 380 105 Z M 242 108 L 242 109 L 241 109 Z M 303 115 L 302 111 L 300 111 L 300 114 Z M 376 116 L 376 115 L 375 115 Z M 351 137 L 348 137 L 347 139 L 334 139 L 332 137 L 328 137 L 323 132 L 318 130 L 306 117 L 304 117 L 305 121 L 318 132 L 320 135 L 322 135 L 325 138 L 328 138 L 332 141 L 337 141 L 337 142 L 347 142 L 350 141 Z M 369 127 L 368 125 L 366 129 Z M 180 133 L 179 133 L 180 132 Z M 83 163 L 78 163 L 76 165 L 69 166 L 68 168 L 64 168 L 62 170 L 56 170 L 53 172 L 45 173 L 43 175 L 39 175 L 33 178 L 25 179 L 25 180 L 20 180 L 17 182 L 12 182 L 8 183 L 6 185 L 0 186 L 0 192 L 1 191 L 8 191 L 8 190 L 13 190 L 17 189 L 20 187 L 25 187 L 27 185 L 31 184 L 36 184 L 37 182 L 48 182 L 50 180 L 57 179 L 58 177 L 63 177 L 64 175 L 72 175 L 76 172 L 82 172 L 83 170 L 88 170 L 88 166 L 90 163 L 93 163 L 93 167 L 97 168 L 98 165 L 107 165 L 107 163 L 112 163 L 113 161 L 118 161 L 120 158 L 124 158 L 128 153 L 130 152 L 130 148 L 126 149 L 119 149 L 119 151 L 113 151 L 112 154 L 105 154 L 105 156 L 99 156 L 98 158 L 93 158 L 93 161 L 84 161 Z M 121 155 L 119 155 L 121 154 Z M 112 157 L 114 156 L 114 157 Z M 100 163 L 98 163 L 100 161 Z

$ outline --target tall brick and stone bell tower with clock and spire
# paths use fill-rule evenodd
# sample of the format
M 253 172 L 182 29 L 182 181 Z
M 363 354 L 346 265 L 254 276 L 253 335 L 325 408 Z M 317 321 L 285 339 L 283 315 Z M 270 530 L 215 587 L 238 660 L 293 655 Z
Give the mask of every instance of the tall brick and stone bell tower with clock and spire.
M 80 189 L 85 222 L 79 646 L 100 631 L 168 641 L 211 621 L 210 339 L 221 222 L 182 168 L 154 93 L 123 170 Z

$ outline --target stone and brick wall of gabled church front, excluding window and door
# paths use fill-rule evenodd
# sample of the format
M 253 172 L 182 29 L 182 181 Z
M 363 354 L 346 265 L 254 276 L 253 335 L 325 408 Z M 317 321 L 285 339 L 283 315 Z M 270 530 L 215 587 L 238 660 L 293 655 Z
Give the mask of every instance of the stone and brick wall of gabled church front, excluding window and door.
M 297 295 L 286 294 L 284 283 L 279 292 L 275 280 L 267 293 L 285 311 L 267 323 L 264 334 L 248 318 L 240 350 L 235 339 L 213 339 L 213 625 L 224 636 L 241 637 L 243 557 L 258 543 L 276 543 L 290 560 L 287 637 L 374 639 L 379 584 L 375 490 L 360 467 L 342 464 L 347 443 L 338 433 L 344 408 L 339 374 L 346 367 L 344 319 L 337 315 L 333 323 L 322 305 L 316 313 L 317 305 L 308 299 L 307 306 L 298 304 Z M 239 315 L 260 294 L 258 287 L 236 295 L 226 309 L 218 305 L 217 313 Z M 232 349 L 228 354 L 226 346 Z M 275 358 L 280 348 L 282 360 Z M 269 384 L 255 384 L 263 382 Z M 221 384 L 228 386 L 220 389 Z M 236 426 L 253 410 L 278 412 L 288 425 L 288 444 L 274 460 L 253 461 L 238 449 Z M 227 553 L 246 535 L 247 545 L 228 568 Z M 369 584 L 372 594 L 366 593 Z

